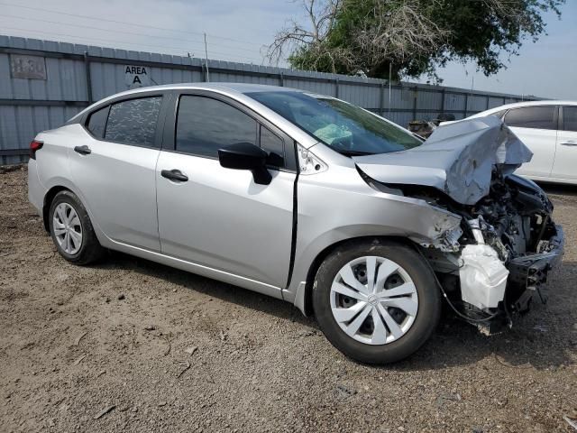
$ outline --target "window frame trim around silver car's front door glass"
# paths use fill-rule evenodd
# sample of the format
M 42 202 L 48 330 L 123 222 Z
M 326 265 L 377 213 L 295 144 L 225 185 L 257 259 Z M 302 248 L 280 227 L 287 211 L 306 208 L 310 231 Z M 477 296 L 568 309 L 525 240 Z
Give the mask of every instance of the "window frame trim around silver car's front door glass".
M 296 152 L 296 141 L 282 131 L 277 125 L 270 123 L 269 120 L 265 119 L 258 113 L 252 110 L 249 106 L 245 106 L 242 102 L 228 97 L 226 95 L 220 94 L 218 92 L 214 92 L 211 90 L 205 89 L 177 89 L 173 90 L 173 99 L 170 102 L 170 108 L 165 120 L 165 127 L 164 127 L 164 134 L 162 136 L 162 147 L 161 150 L 164 152 L 172 152 L 172 153 L 179 153 L 188 156 L 194 156 L 197 158 L 206 158 L 209 160 L 218 160 L 218 157 L 215 156 L 207 156 L 201 155 L 192 152 L 182 152 L 176 150 L 176 129 L 177 129 L 177 120 L 178 120 L 178 113 L 179 113 L 179 103 L 180 97 L 183 96 L 191 96 L 191 97 L 208 97 L 211 99 L 215 99 L 217 101 L 223 102 L 229 106 L 233 106 L 237 110 L 240 110 L 243 114 L 248 115 L 256 122 L 257 128 L 257 143 L 260 145 L 260 138 L 261 138 L 261 128 L 260 126 L 263 125 L 267 129 L 270 130 L 271 133 L 278 135 L 280 139 L 284 142 L 285 145 L 285 167 L 279 168 L 274 166 L 267 166 L 270 170 L 278 170 L 282 172 L 289 172 L 289 173 L 296 173 L 298 172 L 298 163 L 297 163 L 297 152 Z

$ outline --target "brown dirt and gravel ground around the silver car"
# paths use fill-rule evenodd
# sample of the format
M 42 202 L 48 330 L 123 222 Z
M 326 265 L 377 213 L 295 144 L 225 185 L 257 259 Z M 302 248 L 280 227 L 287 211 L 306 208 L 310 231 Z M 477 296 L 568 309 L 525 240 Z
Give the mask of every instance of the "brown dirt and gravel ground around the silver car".
M 444 318 L 408 361 L 345 358 L 297 309 L 114 253 L 78 267 L 0 174 L 1 431 L 575 431 L 577 188 L 546 306 L 481 336 Z

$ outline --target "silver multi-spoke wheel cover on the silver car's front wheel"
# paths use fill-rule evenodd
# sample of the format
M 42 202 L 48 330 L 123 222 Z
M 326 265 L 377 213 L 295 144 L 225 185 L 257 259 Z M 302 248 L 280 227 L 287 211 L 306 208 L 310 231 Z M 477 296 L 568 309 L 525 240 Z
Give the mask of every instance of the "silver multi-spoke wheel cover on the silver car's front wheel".
M 366 284 L 359 281 L 353 272 L 362 264 L 366 265 Z M 385 289 L 385 282 L 394 274 L 402 283 Z M 339 295 L 356 302 L 343 308 L 337 305 Z M 417 318 L 418 295 L 413 280 L 398 263 L 384 257 L 364 256 L 346 263 L 334 277 L 330 302 L 334 320 L 344 333 L 366 345 L 387 345 L 398 340 L 407 334 Z M 392 318 L 389 307 L 401 309 L 406 314 L 401 323 Z M 362 324 L 369 315 L 373 321 L 372 335 L 362 334 Z

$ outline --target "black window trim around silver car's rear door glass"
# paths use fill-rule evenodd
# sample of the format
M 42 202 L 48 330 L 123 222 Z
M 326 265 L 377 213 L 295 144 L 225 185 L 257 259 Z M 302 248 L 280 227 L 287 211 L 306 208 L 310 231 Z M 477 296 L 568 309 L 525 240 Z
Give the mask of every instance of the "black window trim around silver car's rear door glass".
M 138 144 L 138 143 L 127 143 L 127 142 L 120 142 L 120 141 L 113 141 L 113 140 L 105 140 L 104 135 L 103 137 L 99 138 L 96 135 L 92 134 L 88 129 L 88 122 L 90 121 L 90 116 L 96 113 L 101 108 L 108 108 L 108 113 L 106 115 L 106 123 L 105 126 L 108 124 L 108 116 L 110 115 L 110 107 L 114 106 L 114 104 L 119 104 L 121 102 L 132 101 L 134 99 L 143 99 L 146 97 L 160 97 L 160 110 L 159 110 L 159 117 L 156 122 L 156 128 L 154 131 L 154 141 L 151 146 Z M 142 147 L 143 149 L 157 149 L 160 151 L 162 146 L 162 130 L 163 125 L 167 116 L 167 112 L 169 109 L 169 102 L 170 102 L 169 92 L 167 91 L 151 91 L 151 92 L 139 92 L 136 94 L 131 95 L 123 95 L 122 97 L 114 97 L 112 100 L 107 100 L 105 103 L 99 104 L 91 109 L 89 112 L 85 113 L 78 119 L 78 124 L 84 128 L 87 134 L 90 135 L 94 140 L 98 142 L 105 142 L 105 143 L 114 143 L 114 144 L 123 144 L 124 146 L 134 146 L 134 147 Z M 106 129 L 104 134 L 106 134 Z

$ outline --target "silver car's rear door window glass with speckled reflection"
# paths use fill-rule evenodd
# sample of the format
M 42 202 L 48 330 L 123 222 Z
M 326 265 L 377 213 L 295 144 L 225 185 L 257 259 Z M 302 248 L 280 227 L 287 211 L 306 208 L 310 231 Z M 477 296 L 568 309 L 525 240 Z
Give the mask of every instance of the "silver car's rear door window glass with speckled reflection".
M 162 97 L 140 97 L 110 106 L 106 122 L 107 142 L 154 145 Z

